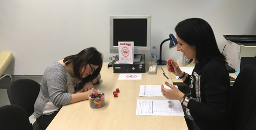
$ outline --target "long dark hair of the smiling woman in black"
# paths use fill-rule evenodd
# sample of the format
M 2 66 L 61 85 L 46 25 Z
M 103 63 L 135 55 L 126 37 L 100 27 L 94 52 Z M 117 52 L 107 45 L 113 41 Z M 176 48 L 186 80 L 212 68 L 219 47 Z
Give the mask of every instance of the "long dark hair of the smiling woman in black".
M 227 63 L 226 56 L 218 48 L 214 31 L 204 19 L 188 18 L 180 21 L 175 27 L 175 31 L 189 46 L 196 47 L 196 62 L 204 64 L 208 60 L 216 58 Z M 193 59 L 190 59 L 188 63 L 191 61 Z

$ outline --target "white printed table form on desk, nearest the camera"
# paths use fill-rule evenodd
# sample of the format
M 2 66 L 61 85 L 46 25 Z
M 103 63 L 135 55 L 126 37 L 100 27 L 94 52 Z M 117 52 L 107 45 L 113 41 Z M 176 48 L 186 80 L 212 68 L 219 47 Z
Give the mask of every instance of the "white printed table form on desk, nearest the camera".
M 136 115 L 184 116 L 178 100 L 137 100 Z

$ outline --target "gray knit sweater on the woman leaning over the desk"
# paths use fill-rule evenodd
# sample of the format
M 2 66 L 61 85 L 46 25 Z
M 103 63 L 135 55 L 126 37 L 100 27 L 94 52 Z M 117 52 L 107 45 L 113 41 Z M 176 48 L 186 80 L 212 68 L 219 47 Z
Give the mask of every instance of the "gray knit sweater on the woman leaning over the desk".
M 97 76 L 100 80 L 100 74 Z M 58 61 L 49 66 L 42 76 L 41 89 L 35 101 L 35 118 L 49 115 L 69 104 L 79 79 L 73 77 Z

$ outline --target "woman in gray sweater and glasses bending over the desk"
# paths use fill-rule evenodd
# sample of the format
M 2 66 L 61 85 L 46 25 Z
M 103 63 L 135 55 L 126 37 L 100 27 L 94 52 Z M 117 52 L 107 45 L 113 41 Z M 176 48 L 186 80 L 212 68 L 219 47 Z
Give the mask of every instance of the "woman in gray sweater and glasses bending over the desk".
M 34 105 L 41 129 L 47 128 L 61 106 L 89 99 L 88 95 L 96 91 L 93 83 L 99 82 L 101 67 L 102 54 L 95 48 L 87 48 L 55 61 L 45 70 Z M 78 90 L 82 93 L 74 93 Z

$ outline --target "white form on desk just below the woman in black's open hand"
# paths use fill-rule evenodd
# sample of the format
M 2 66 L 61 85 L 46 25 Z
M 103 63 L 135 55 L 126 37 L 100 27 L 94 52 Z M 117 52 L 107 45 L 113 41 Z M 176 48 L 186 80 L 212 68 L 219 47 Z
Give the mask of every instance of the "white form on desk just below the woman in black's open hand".
M 178 88 L 177 85 L 175 85 Z M 163 85 L 165 89 L 170 89 L 169 86 Z M 140 97 L 163 97 L 161 85 L 140 85 Z

